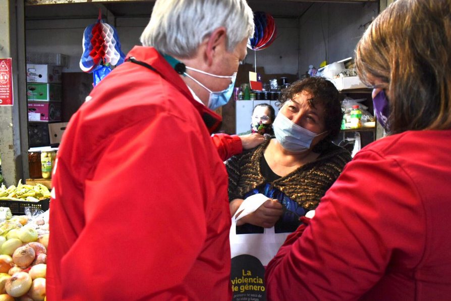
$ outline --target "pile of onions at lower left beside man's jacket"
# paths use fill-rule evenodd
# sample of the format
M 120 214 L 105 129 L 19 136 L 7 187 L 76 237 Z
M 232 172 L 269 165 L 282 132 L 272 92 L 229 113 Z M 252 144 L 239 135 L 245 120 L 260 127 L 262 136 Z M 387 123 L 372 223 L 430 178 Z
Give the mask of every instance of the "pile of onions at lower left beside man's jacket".
M 45 300 L 48 236 L 48 211 L 0 223 L 0 301 Z

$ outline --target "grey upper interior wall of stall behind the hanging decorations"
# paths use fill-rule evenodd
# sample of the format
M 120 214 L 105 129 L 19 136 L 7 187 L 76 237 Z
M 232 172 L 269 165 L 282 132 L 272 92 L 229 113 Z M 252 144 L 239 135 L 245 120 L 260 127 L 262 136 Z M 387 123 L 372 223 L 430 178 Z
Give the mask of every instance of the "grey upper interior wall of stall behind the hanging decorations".
M 248 49 L 246 63 L 254 64 L 255 58 L 257 67 L 264 67 L 265 74 L 303 74 L 310 64 L 318 67 L 326 58 L 331 63 L 352 57 L 354 47 L 363 33 L 363 25 L 376 15 L 376 3 L 314 3 L 299 18 L 276 18 L 276 40 L 261 51 Z M 70 66 L 63 72 L 81 72 L 79 61 L 83 52 L 83 31 L 95 21 L 27 21 L 26 50 L 68 55 Z M 147 22 L 148 18 L 116 19 L 124 53 L 139 44 L 139 36 Z

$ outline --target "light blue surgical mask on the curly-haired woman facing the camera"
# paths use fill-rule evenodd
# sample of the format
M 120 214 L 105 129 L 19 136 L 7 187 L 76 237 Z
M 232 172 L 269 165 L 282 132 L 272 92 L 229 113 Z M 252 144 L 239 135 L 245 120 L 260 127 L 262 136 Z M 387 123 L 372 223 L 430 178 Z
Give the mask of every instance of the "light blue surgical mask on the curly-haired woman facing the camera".
M 277 142 L 291 153 L 305 152 L 310 148 L 313 138 L 322 134 L 316 134 L 297 125 L 282 113 L 277 114 L 272 128 Z

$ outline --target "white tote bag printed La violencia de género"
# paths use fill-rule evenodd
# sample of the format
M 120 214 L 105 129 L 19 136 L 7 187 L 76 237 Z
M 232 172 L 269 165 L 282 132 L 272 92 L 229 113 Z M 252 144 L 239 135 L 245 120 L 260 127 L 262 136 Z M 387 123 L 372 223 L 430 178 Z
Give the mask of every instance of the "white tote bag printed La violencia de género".
M 267 196 L 249 196 L 232 218 L 230 248 L 232 253 L 231 282 L 233 300 L 266 300 L 264 271 L 290 233 L 274 233 L 274 227 L 264 233 L 237 234 L 237 221 L 256 211 Z

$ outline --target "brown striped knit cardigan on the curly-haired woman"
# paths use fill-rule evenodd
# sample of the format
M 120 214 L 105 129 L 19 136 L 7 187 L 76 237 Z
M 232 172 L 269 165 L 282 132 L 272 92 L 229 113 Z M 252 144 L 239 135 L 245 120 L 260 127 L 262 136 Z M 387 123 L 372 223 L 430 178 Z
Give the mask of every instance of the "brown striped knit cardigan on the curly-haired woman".
M 260 160 L 269 141 L 233 156 L 225 167 L 229 174 L 229 200 L 243 198 L 252 189 L 266 183 L 260 171 Z M 306 210 L 315 209 L 320 198 L 351 161 L 348 150 L 332 142 L 323 142 L 319 157 L 271 184 Z

